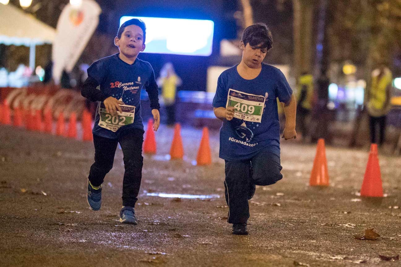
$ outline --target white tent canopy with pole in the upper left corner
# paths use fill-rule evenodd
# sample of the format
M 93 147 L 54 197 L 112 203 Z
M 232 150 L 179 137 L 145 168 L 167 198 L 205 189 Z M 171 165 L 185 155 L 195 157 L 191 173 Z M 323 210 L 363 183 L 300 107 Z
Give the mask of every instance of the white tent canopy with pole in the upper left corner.
M 53 43 L 56 30 L 25 14 L 11 4 L 0 4 L 0 44 L 30 47 L 29 66 L 33 70 L 35 46 Z

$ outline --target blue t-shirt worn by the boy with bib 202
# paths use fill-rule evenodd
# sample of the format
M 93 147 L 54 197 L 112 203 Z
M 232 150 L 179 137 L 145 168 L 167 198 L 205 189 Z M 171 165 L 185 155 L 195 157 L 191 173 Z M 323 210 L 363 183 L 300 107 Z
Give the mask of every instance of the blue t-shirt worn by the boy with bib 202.
M 107 97 L 112 96 L 116 99 L 122 99 L 125 105 L 136 107 L 134 122 L 124 125 L 113 132 L 98 125 L 100 118 L 99 105 L 103 105 L 102 102 L 99 102 L 95 116 L 95 125 L 92 130 L 93 134 L 105 138 L 117 138 L 119 134 L 129 129 L 144 129 L 140 105 L 142 87 L 145 87 L 146 91 L 156 90 L 157 92 L 158 90 L 150 63 L 137 58 L 130 65 L 122 61 L 117 53 L 92 63 L 88 68 L 88 76 L 96 79 L 100 85 L 100 91 Z

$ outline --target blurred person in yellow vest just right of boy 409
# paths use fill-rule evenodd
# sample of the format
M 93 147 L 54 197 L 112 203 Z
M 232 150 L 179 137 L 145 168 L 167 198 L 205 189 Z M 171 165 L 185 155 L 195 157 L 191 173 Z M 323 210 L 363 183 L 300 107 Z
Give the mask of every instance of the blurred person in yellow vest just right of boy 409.
M 306 140 L 308 136 L 308 122 L 307 118 L 312 110 L 313 100 L 313 77 L 308 73 L 302 73 L 298 78 L 298 103 L 297 103 L 297 119 L 296 125 L 302 135 L 302 140 Z

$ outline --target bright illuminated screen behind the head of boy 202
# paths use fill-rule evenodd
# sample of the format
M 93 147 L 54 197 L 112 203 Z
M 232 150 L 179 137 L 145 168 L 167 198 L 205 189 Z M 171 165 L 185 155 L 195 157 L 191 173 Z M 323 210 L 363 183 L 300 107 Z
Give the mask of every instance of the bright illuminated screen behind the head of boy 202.
M 193 56 L 212 53 L 214 22 L 211 20 L 124 16 L 120 18 L 120 26 L 132 18 L 139 18 L 146 24 L 143 53 Z

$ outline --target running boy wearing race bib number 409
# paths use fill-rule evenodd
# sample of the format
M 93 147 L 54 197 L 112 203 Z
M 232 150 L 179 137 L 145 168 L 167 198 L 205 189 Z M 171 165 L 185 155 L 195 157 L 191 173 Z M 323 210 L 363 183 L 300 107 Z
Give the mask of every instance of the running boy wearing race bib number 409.
M 278 97 L 284 103 L 283 138 L 296 138 L 296 101 L 283 73 L 262 63 L 273 43 L 265 24 L 247 27 L 242 35 L 241 63 L 224 71 L 218 80 L 214 112 L 223 121 L 220 158 L 225 160 L 225 197 L 233 234 L 247 235 L 248 200 L 255 185 L 274 184 L 280 173 Z

